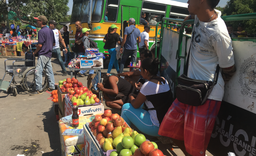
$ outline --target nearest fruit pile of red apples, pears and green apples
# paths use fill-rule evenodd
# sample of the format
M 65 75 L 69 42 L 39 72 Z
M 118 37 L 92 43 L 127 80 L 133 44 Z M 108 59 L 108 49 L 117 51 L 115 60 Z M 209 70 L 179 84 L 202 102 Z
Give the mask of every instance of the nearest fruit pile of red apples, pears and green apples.
M 146 141 L 143 134 L 132 131 L 124 119 L 112 114 L 111 110 L 105 110 L 102 116 L 95 116 L 89 127 L 105 152 L 117 150 L 112 151 L 110 156 L 164 156 L 156 143 Z

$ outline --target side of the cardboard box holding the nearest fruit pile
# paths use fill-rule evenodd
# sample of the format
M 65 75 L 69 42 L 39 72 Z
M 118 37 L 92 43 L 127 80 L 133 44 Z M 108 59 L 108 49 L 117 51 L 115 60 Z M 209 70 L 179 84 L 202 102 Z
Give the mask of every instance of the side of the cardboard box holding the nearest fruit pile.
M 89 132 L 87 125 L 84 125 L 84 154 L 85 156 L 104 156 L 102 149 L 98 147 L 96 141 Z

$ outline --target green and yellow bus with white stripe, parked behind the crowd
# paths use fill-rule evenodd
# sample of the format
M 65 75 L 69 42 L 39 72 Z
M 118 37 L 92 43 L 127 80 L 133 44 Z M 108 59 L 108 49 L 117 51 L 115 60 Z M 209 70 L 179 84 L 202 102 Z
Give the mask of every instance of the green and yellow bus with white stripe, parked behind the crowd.
M 140 17 L 141 12 L 145 12 L 145 19 L 152 27 L 149 33 L 149 49 L 152 49 L 156 23 L 161 21 L 163 17 L 184 19 L 189 15 L 187 6 L 187 3 L 172 0 L 74 0 L 69 25 L 70 45 L 75 43 L 75 22 L 79 20 L 82 22 L 83 28 L 89 28 L 91 25 L 89 38 L 97 43 L 99 52 L 108 54 L 108 51 L 103 49 L 102 40 L 110 25 L 116 24 L 119 27 L 117 33 L 123 37 L 124 29 L 128 27 L 126 21 L 129 18 L 134 18 L 136 27 L 142 32 L 144 25 L 140 23 Z M 154 18 L 156 18 L 155 21 Z M 160 27 L 158 31 L 159 37 Z

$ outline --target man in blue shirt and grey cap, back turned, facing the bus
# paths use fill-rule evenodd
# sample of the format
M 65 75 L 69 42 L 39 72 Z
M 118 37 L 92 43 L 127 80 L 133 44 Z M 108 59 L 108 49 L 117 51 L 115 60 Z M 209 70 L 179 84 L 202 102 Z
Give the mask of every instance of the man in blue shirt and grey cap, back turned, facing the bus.
M 135 19 L 130 18 L 129 27 L 126 27 L 124 30 L 124 39 L 120 48 L 120 52 L 123 53 L 119 72 L 122 73 L 124 70 L 125 61 L 131 55 L 131 61 L 136 62 L 137 59 L 137 42 L 140 43 L 140 30 L 135 26 Z M 137 41 L 138 38 L 138 41 Z M 123 46 L 125 44 L 125 50 L 123 51 Z M 132 68 L 134 70 L 135 68 Z

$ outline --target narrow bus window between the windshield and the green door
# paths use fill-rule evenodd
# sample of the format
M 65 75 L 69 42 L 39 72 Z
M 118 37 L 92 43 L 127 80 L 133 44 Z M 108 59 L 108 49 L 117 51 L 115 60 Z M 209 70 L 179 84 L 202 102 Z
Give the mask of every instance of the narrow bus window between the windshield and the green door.
M 118 15 L 119 0 L 107 0 L 104 16 L 105 22 L 116 22 Z

